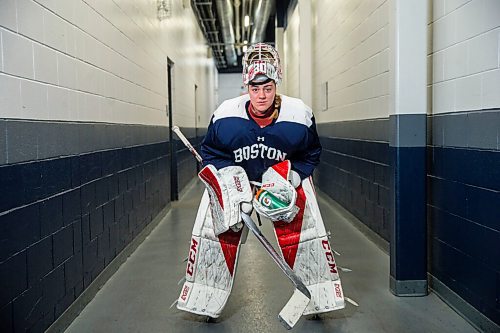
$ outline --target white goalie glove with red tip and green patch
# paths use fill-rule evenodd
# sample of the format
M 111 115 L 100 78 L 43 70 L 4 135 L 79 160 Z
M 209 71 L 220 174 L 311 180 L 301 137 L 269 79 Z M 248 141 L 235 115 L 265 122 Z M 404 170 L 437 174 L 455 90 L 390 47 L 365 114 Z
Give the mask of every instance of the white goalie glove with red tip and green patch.
M 290 161 L 285 160 L 267 169 L 253 199 L 255 210 L 273 222 L 291 222 L 299 211 L 295 205 L 297 191 L 294 185 L 300 185 L 300 176 L 291 167 Z

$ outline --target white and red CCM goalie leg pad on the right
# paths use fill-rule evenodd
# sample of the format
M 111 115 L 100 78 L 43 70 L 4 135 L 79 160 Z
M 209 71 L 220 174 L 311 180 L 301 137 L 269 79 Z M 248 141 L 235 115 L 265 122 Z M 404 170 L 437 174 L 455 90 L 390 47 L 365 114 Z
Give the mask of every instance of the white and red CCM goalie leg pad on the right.
M 342 284 L 310 178 L 297 188 L 296 205 L 293 221 L 275 222 L 274 230 L 283 257 L 311 292 L 304 314 L 342 309 Z

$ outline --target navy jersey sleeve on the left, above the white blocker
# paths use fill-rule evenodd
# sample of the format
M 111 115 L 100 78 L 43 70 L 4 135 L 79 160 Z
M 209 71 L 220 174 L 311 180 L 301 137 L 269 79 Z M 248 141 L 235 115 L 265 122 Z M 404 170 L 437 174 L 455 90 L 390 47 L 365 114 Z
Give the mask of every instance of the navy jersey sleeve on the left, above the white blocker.
M 217 136 L 217 123 L 214 122 L 213 118 L 208 126 L 207 134 L 201 142 L 201 157 L 203 158 L 203 166 L 212 164 L 217 169 L 221 169 L 234 165 L 230 149 L 224 147 Z

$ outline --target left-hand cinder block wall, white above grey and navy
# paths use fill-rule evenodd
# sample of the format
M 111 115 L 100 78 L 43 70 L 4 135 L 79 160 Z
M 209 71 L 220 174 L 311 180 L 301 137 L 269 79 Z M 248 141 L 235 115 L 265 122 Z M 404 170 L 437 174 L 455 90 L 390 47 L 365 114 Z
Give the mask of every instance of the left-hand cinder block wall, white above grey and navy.
M 191 138 L 216 73 L 189 3 L 172 10 L 0 1 L 1 332 L 43 332 L 170 201 L 167 58 Z M 196 166 L 175 151 L 182 190 Z

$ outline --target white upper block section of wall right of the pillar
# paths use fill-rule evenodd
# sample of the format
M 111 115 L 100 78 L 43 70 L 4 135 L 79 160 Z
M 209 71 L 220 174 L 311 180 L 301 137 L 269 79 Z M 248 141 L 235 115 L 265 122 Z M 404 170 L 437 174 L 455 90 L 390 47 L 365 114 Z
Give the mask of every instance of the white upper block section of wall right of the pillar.
M 436 0 L 429 15 L 432 114 L 498 109 L 498 1 Z

